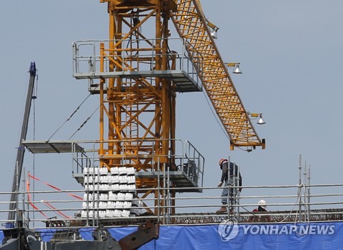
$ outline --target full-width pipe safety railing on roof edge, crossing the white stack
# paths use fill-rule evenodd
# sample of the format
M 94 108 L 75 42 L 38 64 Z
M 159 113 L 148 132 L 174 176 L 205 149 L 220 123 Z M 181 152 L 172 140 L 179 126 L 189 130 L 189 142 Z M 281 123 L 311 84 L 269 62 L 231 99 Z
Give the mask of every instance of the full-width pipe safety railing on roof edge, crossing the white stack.
M 167 176 L 165 176 L 167 178 Z M 161 182 L 163 183 L 163 182 Z M 132 192 L 130 204 L 125 195 L 104 196 L 104 190 L 27 191 L 18 196 L 17 213 L 23 224 L 29 227 L 93 227 L 97 225 L 137 225 L 146 219 L 163 224 L 213 224 L 225 219 L 238 223 L 281 223 L 343 220 L 343 184 L 243 186 L 235 203 L 228 203 L 227 211 L 216 213 L 222 207 L 219 187 L 202 187 L 202 195 L 187 193 L 181 197 L 146 197 L 141 199 Z M 224 187 L 227 188 L 227 187 Z M 228 187 L 235 188 L 235 187 Z M 311 188 L 309 197 L 305 188 Z M 148 189 L 146 189 L 148 190 Z M 151 190 L 151 188 L 150 188 Z M 171 192 L 176 188 L 158 186 L 159 192 Z M 161 192 L 163 193 L 163 192 Z M 263 193 L 263 195 L 259 195 Z M 34 199 L 32 196 L 34 194 Z M 268 194 L 268 195 L 266 195 Z M 16 221 L 8 221 L 10 192 L 0 192 L 0 222 L 3 227 Z M 30 198 L 31 197 L 31 198 Z M 163 199 L 174 202 L 161 202 Z M 252 212 L 263 199 L 267 211 Z M 157 204 L 157 205 L 156 205 Z M 158 213 L 149 210 L 158 208 Z M 127 210 L 126 214 L 123 211 Z M 120 212 L 121 211 L 121 212 Z M 175 212 L 172 212 L 175 211 Z

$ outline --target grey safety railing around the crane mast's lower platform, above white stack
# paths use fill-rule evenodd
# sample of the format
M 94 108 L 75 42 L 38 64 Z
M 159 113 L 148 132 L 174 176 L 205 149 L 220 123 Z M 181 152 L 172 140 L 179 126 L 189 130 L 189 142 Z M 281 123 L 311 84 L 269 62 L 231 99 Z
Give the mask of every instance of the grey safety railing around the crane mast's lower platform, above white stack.
M 167 155 L 163 155 L 161 152 L 156 152 L 157 145 L 168 141 L 175 145 L 175 152 L 169 151 Z M 106 148 L 108 145 L 121 145 L 121 151 L 117 151 L 115 155 L 99 155 L 100 145 Z M 76 147 L 77 145 L 77 147 Z M 126 147 L 131 147 L 132 145 L 140 145 L 145 149 L 150 149 L 150 152 L 145 151 L 143 153 L 136 153 L 135 155 L 129 155 L 126 151 Z M 79 148 L 84 149 L 82 153 L 78 152 Z M 181 139 L 174 140 L 106 140 L 106 141 L 75 141 L 73 142 L 73 165 L 72 172 L 74 174 L 84 173 L 84 167 L 98 167 L 99 161 L 102 158 L 118 160 L 117 166 L 131 166 L 130 162 L 132 160 L 147 160 L 150 159 L 151 166 L 158 165 L 156 159 L 168 158 L 172 160 L 172 164 L 166 164 L 165 169 L 168 171 L 181 171 L 183 172 L 194 186 L 203 185 L 203 175 L 204 175 L 204 157 L 201 153 L 194 147 L 188 140 L 183 141 Z M 151 168 L 147 169 L 154 173 L 157 169 Z

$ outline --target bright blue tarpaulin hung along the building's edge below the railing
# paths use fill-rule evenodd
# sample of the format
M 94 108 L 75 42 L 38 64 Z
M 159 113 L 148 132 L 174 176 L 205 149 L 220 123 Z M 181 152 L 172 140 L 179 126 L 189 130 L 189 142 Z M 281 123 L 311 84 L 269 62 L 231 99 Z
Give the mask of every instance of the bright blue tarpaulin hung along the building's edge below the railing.
M 82 228 L 85 240 L 93 240 L 94 228 Z M 136 231 L 137 227 L 110 228 L 116 240 Z M 56 229 L 40 230 L 50 240 Z M 0 237 L 3 237 L 1 232 Z M 158 240 L 141 250 L 163 249 L 343 249 L 343 223 L 261 223 L 221 225 L 161 225 Z

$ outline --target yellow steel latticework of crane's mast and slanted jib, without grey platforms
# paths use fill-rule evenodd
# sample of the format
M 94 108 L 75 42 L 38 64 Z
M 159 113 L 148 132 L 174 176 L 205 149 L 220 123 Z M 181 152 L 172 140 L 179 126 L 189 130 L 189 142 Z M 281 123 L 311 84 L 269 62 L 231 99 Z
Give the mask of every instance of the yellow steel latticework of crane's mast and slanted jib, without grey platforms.
M 181 38 L 192 47 L 190 57 L 202 62 L 197 68 L 209 99 L 230 137 L 231 148 L 264 148 L 257 136 L 232 80 L 210 36 L 200 3 L 191 0 L 100 0 L 108 3 L 108 47 L 100 45 L 100 71 L 139 71 L 147 60 L 154 61 L 156 71 L 168 69 L 168 20 L 172 18 Z M 141 27 L 154 21 L 154 43 L 148 42 Z M 151 29 L 151 26 L 150 26 Z M 146 40 L 139 46 L 123 40 Z M 139 57 L 144 51 L 154 51 L 153 58 Z M 126 53 L 126 61 L 123 61 Z M 106 86 L 106 87 L 105 87 Z M 100 166 L 134 166 L 137 171 L 161 170 L 173 166 L 175 159 L 176 90 L 171 79 L 163 77 L 100 79 L 99 147 Z M 154 141 L 154 144 L 147 143 Z M 157 178 L 137 180 L 137 188 L 156 188 Z M 139 190 L 142 197 L 165 191 Z M 174 197 L 175 193 L 171 192 Z M 158 199 L 155 199 L 157 207 Z M 160 199 L 163 205 L 163 199 Z M 172 201 L 174 203 L 174 200 Z M 173 205 L 173 204 L 171 204 Z M 154 211 L 155 214 L 157 210 Z M 172 211 L 173 212 L 173 211 Z

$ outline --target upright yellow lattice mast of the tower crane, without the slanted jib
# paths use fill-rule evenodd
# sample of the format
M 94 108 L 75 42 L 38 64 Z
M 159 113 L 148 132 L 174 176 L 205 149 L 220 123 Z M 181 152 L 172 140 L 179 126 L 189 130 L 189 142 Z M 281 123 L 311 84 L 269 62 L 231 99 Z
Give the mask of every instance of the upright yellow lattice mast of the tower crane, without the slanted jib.
M 167 70 L 167 38 L 169 36 L 169 10 L 176 10 L 172 0 L 102 0 L 108 3 L 109 47 L 100 46 L 101 68 L 104 72 L 105 61 L 109 62 L 109 71 L 139 71 L 148 60 L 154 60 L 154 69 Z M 134 20 L 134 18 L 136 18 Z M 155 44 L 146 41 L 123 48 L 123 40 L 131 38 L 145 39 L 140 28 L 155 18 Z M 139 57 L 143 51 L 154 51 L 154 58 Z M 124 51 L 124 52 L 123 52 Z M 126 53 L 123 62 L 122 53 Z M 131 58 L 131 61 L 130 61 Z M 107 89 L 105 88 L 107 84 Z M 163 171 L 163 167 L 172 166 L 175 146 L 175 86 L 170 79 L 160 77 L 110 78 L 101 79 L 100 90 L 100 166 L 134 166 L 136 171 Z M 105 90 L 106 89 L 106 90 Z M 107 123 L 106 123 L 107 122 Z M 106 135 L 107 132 L 107 135 Z M 152 143 L 146 143 L 154 141 Z M 158 191 L 139 190 L 154 188 L 157 190 L 157 178 L 137 179 L 142 198 L 151 193 L 155 198 Z M 164 195 L 165 190 L 161 190 Z M 174 192 L 171 193 L 174 196 Z M 155 199 L 157 207 L 158 199 Z M 174 203 L 174 202 L 173 202 Z M 163 205 L 163 199 L 160 204 Z M 154 211 L 156 214 L 157 210 Z

